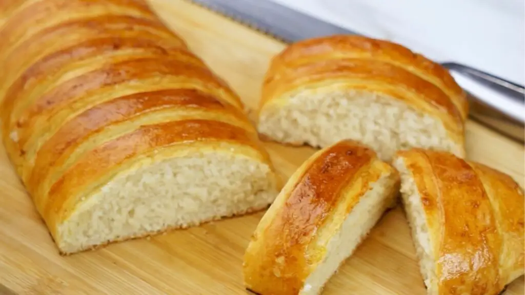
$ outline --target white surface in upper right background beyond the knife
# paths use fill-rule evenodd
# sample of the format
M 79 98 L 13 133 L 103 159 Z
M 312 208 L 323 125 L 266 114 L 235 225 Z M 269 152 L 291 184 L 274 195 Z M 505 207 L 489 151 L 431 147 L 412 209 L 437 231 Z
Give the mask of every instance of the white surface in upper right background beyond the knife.
M 270 1 L 270 0 L 261 0 Z M 523 0 L 271 0 L 525 84 Z

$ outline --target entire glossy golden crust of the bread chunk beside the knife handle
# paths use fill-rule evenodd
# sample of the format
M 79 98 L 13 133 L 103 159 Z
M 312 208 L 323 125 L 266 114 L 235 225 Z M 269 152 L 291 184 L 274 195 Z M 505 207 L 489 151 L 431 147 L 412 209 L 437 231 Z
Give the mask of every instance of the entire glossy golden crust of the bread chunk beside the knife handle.
M 385 40 L 335 35 L 299 41 L 275 56 L 266 72 L 259 112 L 308 87 L 338 84 L 380 92 L 439 118 L 463 144 L 466 93 L 447 69 Z

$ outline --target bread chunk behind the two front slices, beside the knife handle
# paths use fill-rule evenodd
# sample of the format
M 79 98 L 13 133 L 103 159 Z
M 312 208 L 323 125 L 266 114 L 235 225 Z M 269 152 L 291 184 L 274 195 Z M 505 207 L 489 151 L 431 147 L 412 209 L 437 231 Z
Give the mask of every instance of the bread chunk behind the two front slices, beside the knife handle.
M 258 130 L 321 148 L 359 140 L 386 161 L 412 147 L 463 157 L 467 113 L 465 92 L 442 66 L 388 41 L 338 35 L 272 59 Z

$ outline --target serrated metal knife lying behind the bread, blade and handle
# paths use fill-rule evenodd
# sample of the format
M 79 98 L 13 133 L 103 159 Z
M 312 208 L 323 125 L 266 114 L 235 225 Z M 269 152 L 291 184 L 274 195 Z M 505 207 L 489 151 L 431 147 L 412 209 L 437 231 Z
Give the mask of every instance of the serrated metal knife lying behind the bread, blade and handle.
M 270 0 L 190 0 L 262 33 L 293 43 L 330 35 L 359 35 Z M 522 85 L 459 64 L 442 62 L 467 92 L 470 118 L 511 139 L 525 142 L 525 89 Z

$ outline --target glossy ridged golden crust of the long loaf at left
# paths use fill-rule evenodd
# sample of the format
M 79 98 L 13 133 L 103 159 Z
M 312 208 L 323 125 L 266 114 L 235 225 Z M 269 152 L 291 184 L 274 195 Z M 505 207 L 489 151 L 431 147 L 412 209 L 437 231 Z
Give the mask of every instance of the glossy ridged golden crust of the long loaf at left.
M 237 94 L 143 0 L 4 1 L 0 35 L 2 139 L 54 238 L 152 153 L 233 145 L 272 167 Z

